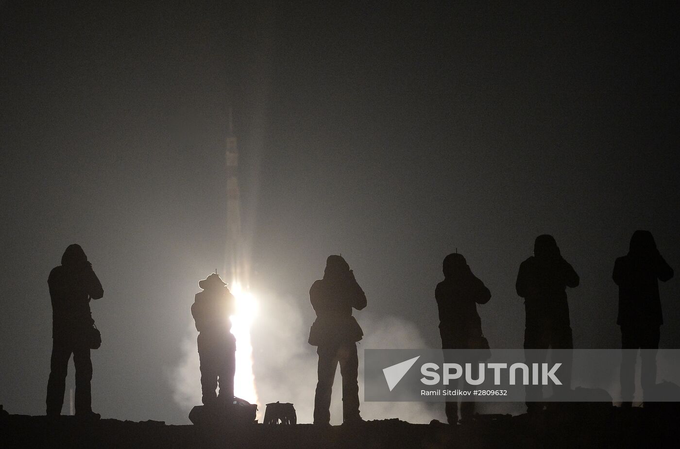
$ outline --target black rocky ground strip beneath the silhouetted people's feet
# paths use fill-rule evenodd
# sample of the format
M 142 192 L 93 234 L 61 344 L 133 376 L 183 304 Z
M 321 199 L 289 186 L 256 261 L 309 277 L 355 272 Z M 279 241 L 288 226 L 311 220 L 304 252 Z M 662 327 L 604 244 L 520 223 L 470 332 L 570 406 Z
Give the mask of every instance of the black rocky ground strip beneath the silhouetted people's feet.
M 252 424 L 238 428 L 134 423 L 102 419 L 79 423 L 71 416 L 0 418 L 0 447 L 78 448 L 543 448 L 677 447 L 679 406 L 621 410 L 598 404 L 566 404 L 537 416 L 477 416 L 455 427 L 376 420 L 361 425 Z

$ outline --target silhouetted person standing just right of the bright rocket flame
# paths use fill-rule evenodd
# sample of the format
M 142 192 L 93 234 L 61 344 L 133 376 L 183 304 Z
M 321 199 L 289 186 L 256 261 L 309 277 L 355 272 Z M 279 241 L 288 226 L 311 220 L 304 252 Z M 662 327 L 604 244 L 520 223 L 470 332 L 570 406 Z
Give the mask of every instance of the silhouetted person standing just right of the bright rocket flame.
M 330 393 L 338 363 L 342 375 L 343 423 L 360 422 L 356 342 L 364 333 L 352 317 L 352 308 L 366 307 L 366 295 L 342 256 L 328 256 L 324 278 L 313 283 L 309 300 L 316 312 L 316 320 L 309 329 L 309 344 L 318 346 L 319 355 L 314 424 L 330 423 Z

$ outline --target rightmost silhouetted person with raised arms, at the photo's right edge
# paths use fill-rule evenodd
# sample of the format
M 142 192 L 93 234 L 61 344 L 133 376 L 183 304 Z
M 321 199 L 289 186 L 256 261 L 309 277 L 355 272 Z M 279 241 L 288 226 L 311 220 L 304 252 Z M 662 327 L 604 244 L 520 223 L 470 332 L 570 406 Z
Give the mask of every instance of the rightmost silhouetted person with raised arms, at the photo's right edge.
M 656 384 L 656 350 L 659 348 L 661 313 L 658 281 L 673 277 L 670 268 L 656 248 L 649 231 L 637 230 L 630 238 L 627 255 L 616 259 L 612 278 L 619 286 L 619 315 L 623 357 L 621 362 L 622 407 L 632 406 L 635 392 L 635 361 L 641 351 L 641 385 L 645 389 Z

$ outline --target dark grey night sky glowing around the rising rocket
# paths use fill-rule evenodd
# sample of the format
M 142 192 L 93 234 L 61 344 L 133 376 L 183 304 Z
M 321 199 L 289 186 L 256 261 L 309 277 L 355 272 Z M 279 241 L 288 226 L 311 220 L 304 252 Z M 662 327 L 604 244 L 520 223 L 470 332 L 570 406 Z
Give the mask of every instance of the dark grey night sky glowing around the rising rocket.
M 309 286 L 342 253 L 367 313 L 436 346 L 433 292 L 457 247 L 492 291 L 488 340 L 521 347 L 515 276 L 549 233 L 581 275 L 575 345 L 615 347 L 611 269 L 632 232 L 680 267 L 675 10 L 138 3 L 0 2 L 10 412 L 44 413 L 47 276 L 80 243 L 105 289 L 95 410 L 186 421 L 167 377 L 197 281 L 224 260 L 230 104 L 253 284 L 299 302 L 305 326 Z M 661 287 L 668 348 L 678 285 Z

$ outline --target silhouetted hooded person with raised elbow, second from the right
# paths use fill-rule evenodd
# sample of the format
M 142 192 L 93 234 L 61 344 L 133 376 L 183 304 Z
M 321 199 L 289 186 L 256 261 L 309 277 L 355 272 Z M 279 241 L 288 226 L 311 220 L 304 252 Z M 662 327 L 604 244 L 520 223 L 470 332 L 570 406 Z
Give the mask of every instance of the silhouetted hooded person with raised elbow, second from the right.
M 560 351 L 560 380 L 562 386 L 556 393 L 571 389 L 571 348 L 573 336 L 569 322 L 569 306 L 566 300 L 566 287 L 578 287 L 579 275 L 564 260 L 553 236 L 543 234 L 536 238 L 534 255 L 520 265 L 515 289 L 524 298 L 526 322 L 524 328 L 524 349 L 530 350 L 530 361 L 544 362 L 548 348 L 568 349 Z M 553 357 L 556 356 L 553 351 Z M 526 387 L 528 412 L 543 408 L 538 400 L 541 386 Z

